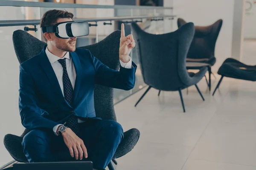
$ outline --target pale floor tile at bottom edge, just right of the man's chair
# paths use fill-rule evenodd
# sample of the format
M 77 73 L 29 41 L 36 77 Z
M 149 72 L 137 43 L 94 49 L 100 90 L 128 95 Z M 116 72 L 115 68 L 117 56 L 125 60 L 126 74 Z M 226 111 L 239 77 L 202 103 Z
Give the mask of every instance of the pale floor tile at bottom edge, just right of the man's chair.
M 180 170 L 192 147 L 139 142 L 122 158 L 116 159 L 119 170 Z

